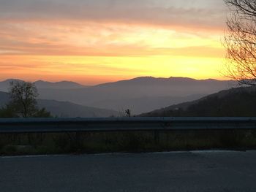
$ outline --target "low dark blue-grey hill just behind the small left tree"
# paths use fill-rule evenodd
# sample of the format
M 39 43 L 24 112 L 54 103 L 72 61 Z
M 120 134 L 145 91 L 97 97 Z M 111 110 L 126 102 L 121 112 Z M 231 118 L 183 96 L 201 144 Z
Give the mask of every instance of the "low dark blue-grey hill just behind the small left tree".
M 8 100 L 7 93 L 0 92 L 0 107 L 7 104 Z M 112 115 L 119 115 L 118 112 L 113 110 L 86 107 L 67 101 L 38 99 L 38 105 L 39 107 L 45 107 L 52 115 L 62 118 L 107 118 Z

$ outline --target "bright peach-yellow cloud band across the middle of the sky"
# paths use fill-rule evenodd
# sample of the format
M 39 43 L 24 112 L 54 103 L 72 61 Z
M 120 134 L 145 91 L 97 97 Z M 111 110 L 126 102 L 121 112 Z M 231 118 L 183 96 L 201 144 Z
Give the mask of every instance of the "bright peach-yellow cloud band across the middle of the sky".
M 165 28 L 91 24 L 41 26 L 34 23 L 0 25 L 2 55 L 219 57 L 219 37 L 200 37 Z M 216 43 L 217 42 L 217 43 Z M 220 44 L 220 43 L 219 43 Z M 193 47 L 193 48 L 191 48 Z

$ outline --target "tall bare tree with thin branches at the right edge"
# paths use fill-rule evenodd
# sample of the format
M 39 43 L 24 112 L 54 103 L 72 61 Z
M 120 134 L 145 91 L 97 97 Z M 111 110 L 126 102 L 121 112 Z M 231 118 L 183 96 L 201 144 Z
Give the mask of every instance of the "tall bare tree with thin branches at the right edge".
M 243 85 L 256 85 L 256 1 L 225 2 L 230 8 L 225 35 L 226 76 Z

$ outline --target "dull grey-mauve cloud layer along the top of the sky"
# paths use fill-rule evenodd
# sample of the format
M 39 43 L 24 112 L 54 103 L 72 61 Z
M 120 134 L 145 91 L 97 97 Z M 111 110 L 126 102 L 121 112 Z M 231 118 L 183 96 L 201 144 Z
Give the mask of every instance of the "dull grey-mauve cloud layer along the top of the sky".
M 1 0 L 1 20 L 79 20 L 222 28 L 222 0 Z

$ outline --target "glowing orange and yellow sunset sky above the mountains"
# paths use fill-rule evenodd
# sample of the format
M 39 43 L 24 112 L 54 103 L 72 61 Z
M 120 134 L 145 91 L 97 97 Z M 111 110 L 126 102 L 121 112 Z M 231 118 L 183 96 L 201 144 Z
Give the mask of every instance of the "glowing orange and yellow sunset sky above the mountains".
M 223 79 L 223 0 L 0 0 L 0 80 Z

